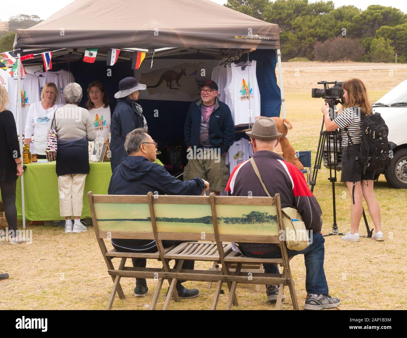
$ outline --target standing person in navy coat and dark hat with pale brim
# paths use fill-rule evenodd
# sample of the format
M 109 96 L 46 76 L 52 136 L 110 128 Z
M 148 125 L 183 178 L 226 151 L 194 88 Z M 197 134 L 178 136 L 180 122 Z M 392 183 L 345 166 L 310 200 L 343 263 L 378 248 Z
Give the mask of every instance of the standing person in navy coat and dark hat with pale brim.
M 118 100 L 111 125 L 110 166 L 112 172 L 120 164 L 121 159 L 128 156 L 124 147 L 126 135 L 137 128 L 147 129 L 147 122 L 142 114 L 143 110 L 136 103 L 140 90 L 144 89 L 146 89 L 145 84 L 138 83 L 134 77 L 126 77 L 119 82 L 119 91 L 114 94 Z

